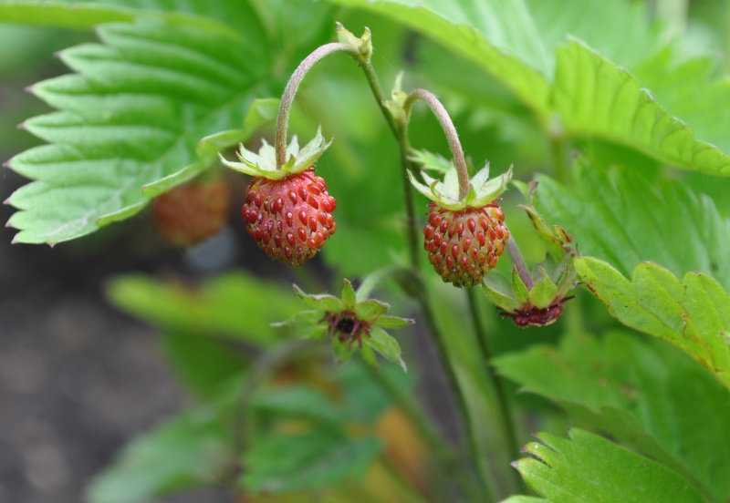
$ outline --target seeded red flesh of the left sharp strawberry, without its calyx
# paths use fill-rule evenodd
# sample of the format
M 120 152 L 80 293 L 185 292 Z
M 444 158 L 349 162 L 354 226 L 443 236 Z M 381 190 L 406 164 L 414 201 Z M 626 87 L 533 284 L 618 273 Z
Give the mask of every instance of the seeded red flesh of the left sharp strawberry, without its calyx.
M 314 167 L 282 180 L 254 177 L 241 209 L 246 230 L 266 255 L 299 266 L 337 230 L 337 201 Z

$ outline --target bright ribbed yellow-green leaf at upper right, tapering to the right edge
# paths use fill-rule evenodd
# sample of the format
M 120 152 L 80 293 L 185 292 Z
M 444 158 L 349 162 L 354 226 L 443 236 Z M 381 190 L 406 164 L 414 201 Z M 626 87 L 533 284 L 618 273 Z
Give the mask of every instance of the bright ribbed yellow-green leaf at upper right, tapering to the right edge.
M 730 175 L 730 157 L 695 139 L 625 68 L 576 39 L 557 50 L 553 103 L 568 135 L 609 139 L 679 168 Z

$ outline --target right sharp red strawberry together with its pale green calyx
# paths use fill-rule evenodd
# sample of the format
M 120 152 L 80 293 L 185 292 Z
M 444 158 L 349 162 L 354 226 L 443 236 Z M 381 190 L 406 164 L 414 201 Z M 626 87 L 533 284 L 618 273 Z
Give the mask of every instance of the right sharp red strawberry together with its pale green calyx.
M 426 167 L 428 164 L 425 163 Z M 428 223 L 423 227 L 423 248 L 433 269 L 444 282 L 454 286 L 478 284 L 495 268 L 509 239 L 505 213 L 495 200 L 506 190 L 512 168 L 490 180 L 487 162 L 468 180 L 469 190 L 463 198 L 453 165 L 448 167 L 443 181 L 422 172 L 423 184 L 411 172 L 408 174 L 416 190 L 433 201 L 429 204 Z

